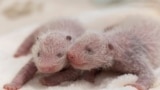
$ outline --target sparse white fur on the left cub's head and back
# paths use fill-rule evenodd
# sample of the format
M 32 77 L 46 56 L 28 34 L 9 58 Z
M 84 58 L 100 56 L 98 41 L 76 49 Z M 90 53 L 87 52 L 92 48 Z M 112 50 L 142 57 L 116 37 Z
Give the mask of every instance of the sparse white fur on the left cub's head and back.
M 60 19 L 47 23 L 39 29 L 42 31 L 35 37 L 32 48 L 33 61 L 39 71 L 41 67 L 52 67 L 52 72 L 60 71 L 67 66 L 66 52 L 84 32 L 83 26 L 76 20 Z

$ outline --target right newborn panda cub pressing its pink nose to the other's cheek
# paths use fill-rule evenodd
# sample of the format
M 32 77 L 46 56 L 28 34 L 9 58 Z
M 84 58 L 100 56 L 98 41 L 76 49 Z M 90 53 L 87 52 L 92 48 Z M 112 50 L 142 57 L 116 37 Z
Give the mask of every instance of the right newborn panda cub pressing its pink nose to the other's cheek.
M 127 85 L 148 90 L 154 83 L 153 69 L 160 65 L 160 21 L 130 16 L 111 29 L 82 35 L 68 51 L 71 65 L 132 73 L 138 80 Z

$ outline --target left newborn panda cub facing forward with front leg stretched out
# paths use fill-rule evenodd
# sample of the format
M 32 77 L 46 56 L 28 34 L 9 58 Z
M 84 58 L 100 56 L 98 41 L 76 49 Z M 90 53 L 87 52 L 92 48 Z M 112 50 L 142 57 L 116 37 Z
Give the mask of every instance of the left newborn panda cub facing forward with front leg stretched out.
M 79 22 L 66 19 L 50 22 L 38 28 L 26 38 L 14 55 L 15 57 L 26 55 L 33 47 L 33 58 L 18 72 L 11 83 L 4 85 L 4 89 L 19 89 L 37 71 L 49 74 L 40 79 L 40 82 L 47 86 L 79 78 L 81 71 L 69 66 L 66 53 L 68 47 L 84 31 Z

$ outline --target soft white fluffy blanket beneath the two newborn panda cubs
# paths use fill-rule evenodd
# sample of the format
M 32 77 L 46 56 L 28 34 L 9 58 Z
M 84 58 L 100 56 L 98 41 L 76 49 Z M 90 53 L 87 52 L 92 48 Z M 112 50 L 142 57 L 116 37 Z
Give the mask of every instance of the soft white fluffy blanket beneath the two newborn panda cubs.
M 143 12 L 142 12 L 143 11 Z M 122 13 L 123 12 L 123 13 Z M 95 22 L 105 20 L 106 25 L 114 23 L 121 16 L 131 14 L 156 14 L 150 9 L 144 8 L 110 8 L 107 10 L 88 12 L 77 17 L 89 29 L 101 29 L 102 26 L 96 26 Z M 104 18 L 105 19 L 102 19 Z M 111 18 L 112 17 L 112 18 Z M 116 19 L 116 20 L 115 20 Z M 107 20 L 107 21 L 106 21 Z M 102 23 L 102 22 L 101 22 Z M 38 25 L 31 25 L 15 32 L 3 35 L 0 37 L 0 89 L 5 83 L 10 82 L 21 67 L 29 60 L 30 56 L 21 58 L 13 58 L 13 53 L 24 40 L 24 38 L 33 31 Z M 95 27 L 96 26 L 96 27 Z M 154 71 L 157 79 L 150 90 L 160 90 L 160 68 Z M 24 85 L 21 90 L 136 90 L 131 86 L 124 86 L 127 83 L 134 83 L 137 77 L 131 74 L 116 75 L 113 73 L 103 73 L 97 79 L 95 84 L 88 83 L 83 80 L 63 83 L 58 86 L 46 87 L 40 85 L 38 78 L 41 75 L 36 75 L 33 80 Z

